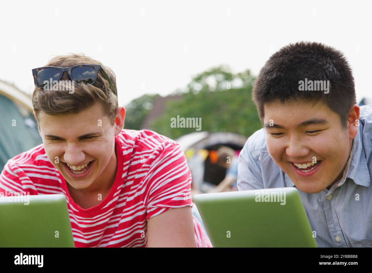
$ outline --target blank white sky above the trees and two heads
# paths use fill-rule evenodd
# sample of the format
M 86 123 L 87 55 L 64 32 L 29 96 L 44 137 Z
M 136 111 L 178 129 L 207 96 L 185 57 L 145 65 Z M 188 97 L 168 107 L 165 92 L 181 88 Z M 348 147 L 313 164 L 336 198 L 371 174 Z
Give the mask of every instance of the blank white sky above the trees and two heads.
M 193 75 L 227 64 L 257 75 L 289 42 L 344 52 L 357 100 L 371 96 L 367 1 L 6 1 L 1 3 L 0 79 L 33 91 L 32 68 L 83 52 L 116 74 L 119 104 L 167 95 Z M 186 51 L 186 52 L 185 52 Z M 369 67 L 369 68 L 368 68 Z

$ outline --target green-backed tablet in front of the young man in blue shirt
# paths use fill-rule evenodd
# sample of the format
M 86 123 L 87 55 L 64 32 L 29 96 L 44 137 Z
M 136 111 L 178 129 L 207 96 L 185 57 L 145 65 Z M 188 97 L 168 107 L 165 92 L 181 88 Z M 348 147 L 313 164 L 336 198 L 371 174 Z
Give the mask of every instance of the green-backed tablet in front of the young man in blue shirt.
M 194 196 L 213 247 L 317 247 L 294 187 Z

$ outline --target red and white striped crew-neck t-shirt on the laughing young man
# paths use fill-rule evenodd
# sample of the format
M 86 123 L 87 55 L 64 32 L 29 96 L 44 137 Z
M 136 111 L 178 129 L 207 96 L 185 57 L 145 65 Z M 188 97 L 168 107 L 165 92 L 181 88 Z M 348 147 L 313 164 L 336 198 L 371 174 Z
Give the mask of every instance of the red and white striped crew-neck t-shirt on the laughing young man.
M 66 196 L 76 247 L 145 247 L 148 219 L 193 205 L 191 173 L 179 144 L 154 131 L 123 129 L 115 137 L 115 149 L 115 181 L 95 207 L 83 209 L 74 202 L 43 144 L 8 160 L 0 175 L 0 192 Z M 196 247 L 211 247 L 195 216 L 193 224 Z

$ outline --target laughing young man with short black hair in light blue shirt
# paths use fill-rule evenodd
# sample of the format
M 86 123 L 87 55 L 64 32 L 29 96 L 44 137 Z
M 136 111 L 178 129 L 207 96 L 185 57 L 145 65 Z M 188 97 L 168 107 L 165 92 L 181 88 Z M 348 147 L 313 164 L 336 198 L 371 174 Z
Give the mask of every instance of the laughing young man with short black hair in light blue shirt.
M 372 247 L 372 105 L 356 104 L 343 54 L 289 44 L 252 97 L 263 129 L 240 153 L 238 189 L 295 186 L 319 247 Z

